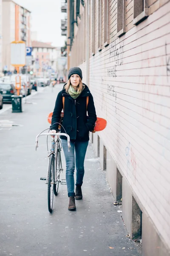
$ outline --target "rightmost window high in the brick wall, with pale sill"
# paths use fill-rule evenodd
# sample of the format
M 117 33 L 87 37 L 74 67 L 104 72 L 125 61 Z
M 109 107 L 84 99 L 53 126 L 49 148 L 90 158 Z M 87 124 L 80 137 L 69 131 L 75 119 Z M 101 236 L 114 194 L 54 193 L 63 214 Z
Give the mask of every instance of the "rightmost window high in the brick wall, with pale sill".
M 147 0 L 133 1 L 133 24 L 138 25 L 148 17 Z

